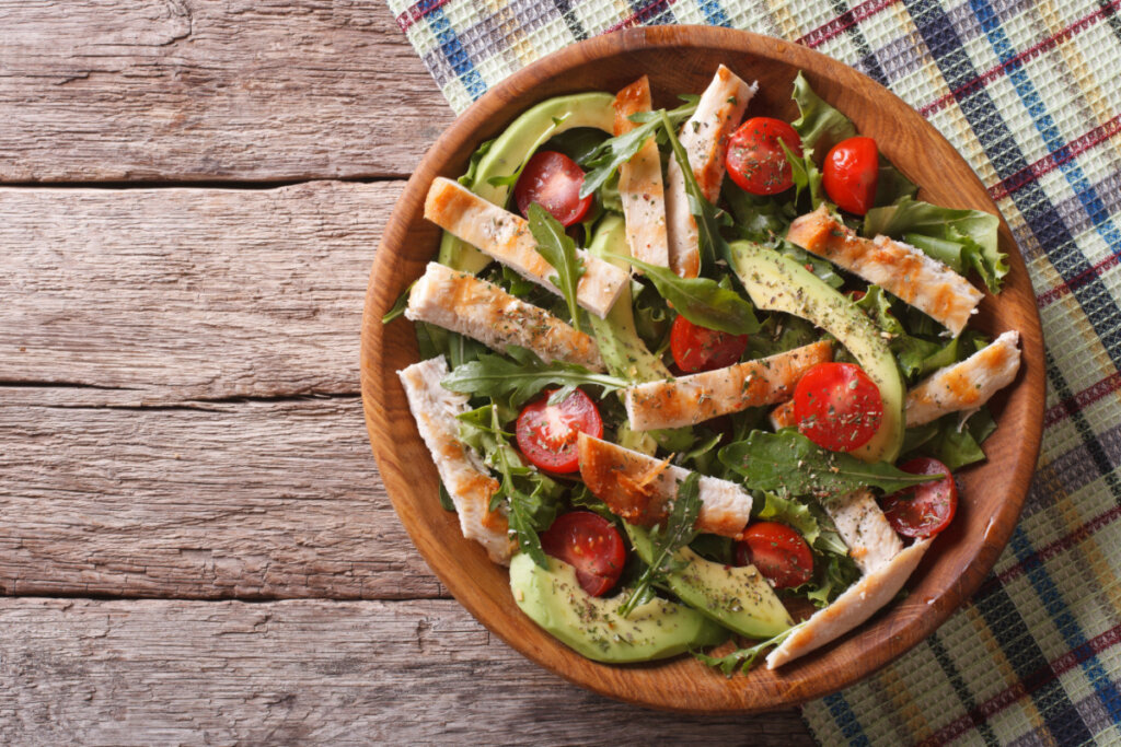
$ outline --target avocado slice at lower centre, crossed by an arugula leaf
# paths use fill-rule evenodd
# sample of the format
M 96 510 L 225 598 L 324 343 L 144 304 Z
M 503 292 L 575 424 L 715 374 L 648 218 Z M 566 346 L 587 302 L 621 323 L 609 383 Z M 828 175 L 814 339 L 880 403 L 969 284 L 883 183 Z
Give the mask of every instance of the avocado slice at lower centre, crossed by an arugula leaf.
M 646 530 L 626 524 L 634 551 L 654 562 Z M 698 613 L 749 638 L 772 638 L 794 625 L 790 613 L 754 566 L 714 563 L 682 548 L 674 554 L 680 570 L 666 575 L 670 590 Z

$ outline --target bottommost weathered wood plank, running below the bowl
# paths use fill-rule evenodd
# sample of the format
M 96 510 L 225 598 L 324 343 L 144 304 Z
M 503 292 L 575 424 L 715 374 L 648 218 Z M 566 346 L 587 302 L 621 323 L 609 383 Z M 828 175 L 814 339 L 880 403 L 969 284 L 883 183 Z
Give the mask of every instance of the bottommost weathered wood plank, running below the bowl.
M 795 711 L 605 700 L 454 601 L 0 600 L 4 744 L 812 745 Z

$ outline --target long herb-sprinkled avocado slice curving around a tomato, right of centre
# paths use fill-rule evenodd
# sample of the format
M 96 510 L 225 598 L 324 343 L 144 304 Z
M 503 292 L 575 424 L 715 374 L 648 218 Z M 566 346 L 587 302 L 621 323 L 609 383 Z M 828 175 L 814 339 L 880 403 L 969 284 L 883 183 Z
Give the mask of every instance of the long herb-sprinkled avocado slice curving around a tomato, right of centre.
M 789 256 L 750 241 L 729 248 L 732 268 L 756 306 L 813 321 L 836 337 L 880 387 L 880 428 L 852 455 L 864 461 L 895 461 L 904 442 L 904 383 L 888 340 L 847 298 Z

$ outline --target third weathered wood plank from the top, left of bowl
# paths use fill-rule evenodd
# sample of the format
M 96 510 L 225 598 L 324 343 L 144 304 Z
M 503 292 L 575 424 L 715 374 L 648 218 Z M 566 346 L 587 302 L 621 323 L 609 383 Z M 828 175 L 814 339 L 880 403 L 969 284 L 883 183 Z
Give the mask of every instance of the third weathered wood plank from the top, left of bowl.
M 386 497 L 358 398 L 118 409 L 91 393 L 0 389 L 0 594 L 446 596 Z

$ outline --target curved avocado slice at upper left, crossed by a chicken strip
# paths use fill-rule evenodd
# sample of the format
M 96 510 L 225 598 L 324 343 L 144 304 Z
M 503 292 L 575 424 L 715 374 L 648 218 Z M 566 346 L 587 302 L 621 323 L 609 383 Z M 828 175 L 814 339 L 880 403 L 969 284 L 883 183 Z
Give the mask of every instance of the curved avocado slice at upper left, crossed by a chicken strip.
M 471 192 L 504 207 L 513 185 L 492 185 L 490 179 L 517 174 L 546 140 L 565 130 L 592 127 L 612 133 L 615 122 L 615 109 L 612 105 L 614 101 L 615 97 L 610 93 L 580 93 L 549 99 L 528 110 L 510 123 L 479 160 Z M 439 242 L 438 261 L 453 270 L 474 274 L 491 260 L 445 231 Z

